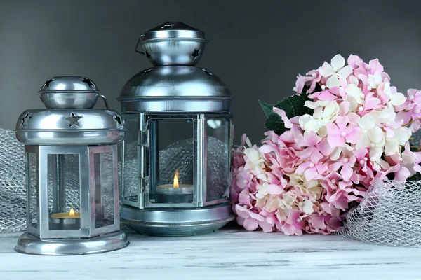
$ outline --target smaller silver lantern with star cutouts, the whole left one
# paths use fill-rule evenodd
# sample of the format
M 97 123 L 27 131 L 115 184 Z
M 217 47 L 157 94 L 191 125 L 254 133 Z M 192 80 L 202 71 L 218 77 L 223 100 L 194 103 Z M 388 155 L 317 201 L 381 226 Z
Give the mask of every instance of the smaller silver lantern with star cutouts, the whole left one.
M 27 157 L 27 232 L 15 251 L 78 255 L 127 246 L 119 218 L 119 113 L 85 77 L 53 77 L 39 94 L 47 109 L 24 111 L 16 124 Z M 98 97 L 107 110 L 91 109 Z

